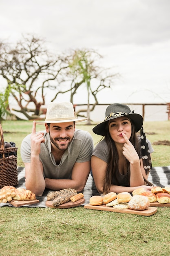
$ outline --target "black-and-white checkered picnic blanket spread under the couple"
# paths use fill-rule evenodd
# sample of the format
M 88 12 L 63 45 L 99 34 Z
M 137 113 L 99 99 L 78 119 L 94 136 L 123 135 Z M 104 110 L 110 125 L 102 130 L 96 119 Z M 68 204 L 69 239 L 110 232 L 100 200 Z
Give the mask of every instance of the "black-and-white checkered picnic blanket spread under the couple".
M 18 186 L 25 188 L 25 169 L 23 167 L 18 167 Z M 170 166 L 158 166 L 158 167 L 152 167 L 152 170 L 150 171 L 148 180 L 154 184 L 154 186 L 161 186 L 166 187 L 170 186 Z M 42 196 L 36 196 L 36 199 L 38 199 L 40 202 L 37 204 L 30 204 L 30 205 L 24 205 L 22 207 L 46 207 L 46 195 L 49 193 L 50 190 L 45 189 Z M 82 205 L 88 204 L 89 199 L 92 195 L 99 195 L 94 180 L 91 176 L 91 174 L 88 177 L 88 180 L 86 182 L 86 186 L 83 191 L 85 202 Z M 9 203 L 0 203 L 0 207 L 2 206 L 11 206 Z

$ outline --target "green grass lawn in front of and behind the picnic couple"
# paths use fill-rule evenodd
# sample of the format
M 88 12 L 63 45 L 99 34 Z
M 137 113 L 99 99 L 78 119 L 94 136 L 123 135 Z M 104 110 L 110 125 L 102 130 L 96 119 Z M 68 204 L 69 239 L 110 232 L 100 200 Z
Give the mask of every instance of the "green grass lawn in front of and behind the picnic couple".
M 77 128 L 88 130 L 94 144 L 95 125 Z M 4 121 L 5 141 L 18 147 L 31 132 L 30 121 Z M 43 126 L 37 126 L 41 130 Z M 144 129 L 153 143 L 170 140 L 170 122 L 145 122 Z M 154 134 L 151 134 L 154 133 Z M 170 165 L 170 146 L 153 145 L 153 166 Z M 70 209 L 1 207 L 0 256 L 167 256 L 170 255 L 170 208 L 158 207 L 152 216 L 96 211 L 75 207 Z

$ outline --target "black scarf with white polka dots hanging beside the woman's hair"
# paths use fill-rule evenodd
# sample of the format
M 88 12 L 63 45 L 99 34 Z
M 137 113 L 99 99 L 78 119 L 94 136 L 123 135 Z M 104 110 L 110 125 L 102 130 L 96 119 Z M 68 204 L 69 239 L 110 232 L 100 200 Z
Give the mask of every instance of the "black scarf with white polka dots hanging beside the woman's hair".
M 152 161 L 150 158 L 150 151 L 148 147 L 148 141 L 146 139 L 146 135 L 144 132 L 144 128 L 142 127 L 140 130 L 140 135 L 141 135 L 141 153 L 142 153 L 142 160 L 144 164 L 144 169 L 146 174 L 152 169 Z

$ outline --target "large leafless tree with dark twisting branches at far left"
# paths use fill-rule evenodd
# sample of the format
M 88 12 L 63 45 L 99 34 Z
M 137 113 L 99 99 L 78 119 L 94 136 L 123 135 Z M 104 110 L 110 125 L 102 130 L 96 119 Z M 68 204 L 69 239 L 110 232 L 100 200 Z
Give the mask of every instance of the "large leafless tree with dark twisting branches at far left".
M 56 90 L 63 81 L 65 60 L 44 47 L 44 40 L 33 35 L 23 36 L 15 46 L 0 44 L 0 75 L 7 81 L 7 90 L 28 119 L 40 115 L 49 90 Z M 33 115 L 29 115 L 29 112 Z

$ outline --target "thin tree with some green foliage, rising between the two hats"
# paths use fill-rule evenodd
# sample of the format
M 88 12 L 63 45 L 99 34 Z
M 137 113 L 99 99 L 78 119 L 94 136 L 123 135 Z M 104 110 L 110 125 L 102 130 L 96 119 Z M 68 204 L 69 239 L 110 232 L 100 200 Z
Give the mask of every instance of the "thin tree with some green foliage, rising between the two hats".
M 69 61 L 70 73 L 73 75 L 73 81 L 76 85 L 74 88 L 77 90 L 83 83 L 86 85 L 88 93 L 87 109 L 79 110 L 77 115 L 80 112 L 86 112 L 88 118 L 87 124 L 91 124 L 90 112 L 93 111 L 98 104 L 97 93 L 104 88 L 110 88 L 110 86 L 113 85 L 113 78 L 118 76 L 118 74 L 107 74 L 109 69 L 99 67 L 98 63 L 100 58 L 102 58 L 102 56 L 93 49 L 78 49 L 73 52 L 71 60 Z M 71 100 L 73 100 L 74 94 L 71 95 Z M 92 106 L 90 104 L 90 95 L 92 95 L 95 100 Z

